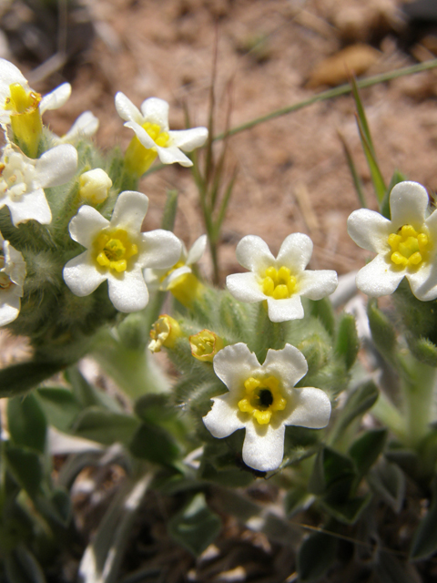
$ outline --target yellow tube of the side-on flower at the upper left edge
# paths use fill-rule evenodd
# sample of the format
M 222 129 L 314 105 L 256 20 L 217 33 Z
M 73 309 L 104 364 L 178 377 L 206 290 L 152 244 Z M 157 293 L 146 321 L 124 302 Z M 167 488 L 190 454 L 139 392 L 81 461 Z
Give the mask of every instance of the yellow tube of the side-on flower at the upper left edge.
M 5 110 L 11 112 L 11 128 L 15 141 L 29 158 L 36 158 L 43 133 L 39 111 L 41 96 L 26 91 L 19 83 L 9 86 L 10 97 L 5 99 Z

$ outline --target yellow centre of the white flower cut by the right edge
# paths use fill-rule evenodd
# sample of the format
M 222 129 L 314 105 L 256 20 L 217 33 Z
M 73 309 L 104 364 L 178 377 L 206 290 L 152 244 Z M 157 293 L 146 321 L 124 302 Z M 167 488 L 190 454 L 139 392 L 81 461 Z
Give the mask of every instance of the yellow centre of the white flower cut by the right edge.
M 401 268 L 417 268 L 426 261 L 432 248 L 427 232 L 417 231 L 412 225 L 403 225 L 388 238 L 391 247 L 390 259 Z

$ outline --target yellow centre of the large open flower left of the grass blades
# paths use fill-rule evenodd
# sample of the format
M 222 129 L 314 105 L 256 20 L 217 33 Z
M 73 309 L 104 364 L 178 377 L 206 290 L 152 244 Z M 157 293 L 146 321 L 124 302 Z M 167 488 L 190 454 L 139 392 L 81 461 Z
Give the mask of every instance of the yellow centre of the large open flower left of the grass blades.
M 123 229 L 102 230 L 94 241 L 95 261 L 100 267 L 122 273 L 127 261 L 137 255 L 138 248 Z

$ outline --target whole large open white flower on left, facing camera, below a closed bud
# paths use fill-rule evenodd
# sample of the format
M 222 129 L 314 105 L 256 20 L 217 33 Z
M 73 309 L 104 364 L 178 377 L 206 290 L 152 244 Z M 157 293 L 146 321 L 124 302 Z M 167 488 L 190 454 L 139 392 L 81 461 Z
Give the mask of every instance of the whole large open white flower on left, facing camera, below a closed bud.
M 168 268 L 180 255 L 180 241 L 168 230 L 140 232 L 147 206 L 145 194 L 127 190 L 119 195 L 110 221 L 93 207 L 78 210 L 69 230 L 86 251 L 64 268 L 64 280 L 73 293 L 89 295 L 107 280 L 109 299 L 119 312 L 146 307 L 143 269 Z

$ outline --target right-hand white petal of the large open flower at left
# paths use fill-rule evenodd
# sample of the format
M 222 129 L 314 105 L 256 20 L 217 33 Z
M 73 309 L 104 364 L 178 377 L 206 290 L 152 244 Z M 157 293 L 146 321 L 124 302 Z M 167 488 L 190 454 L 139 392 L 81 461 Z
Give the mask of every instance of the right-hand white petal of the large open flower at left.
M 141 267 L 166 269 L 172 267 L 180 257 L 180 240 L 169 230 L 149 230 L 141 234 L 143 241 Z

